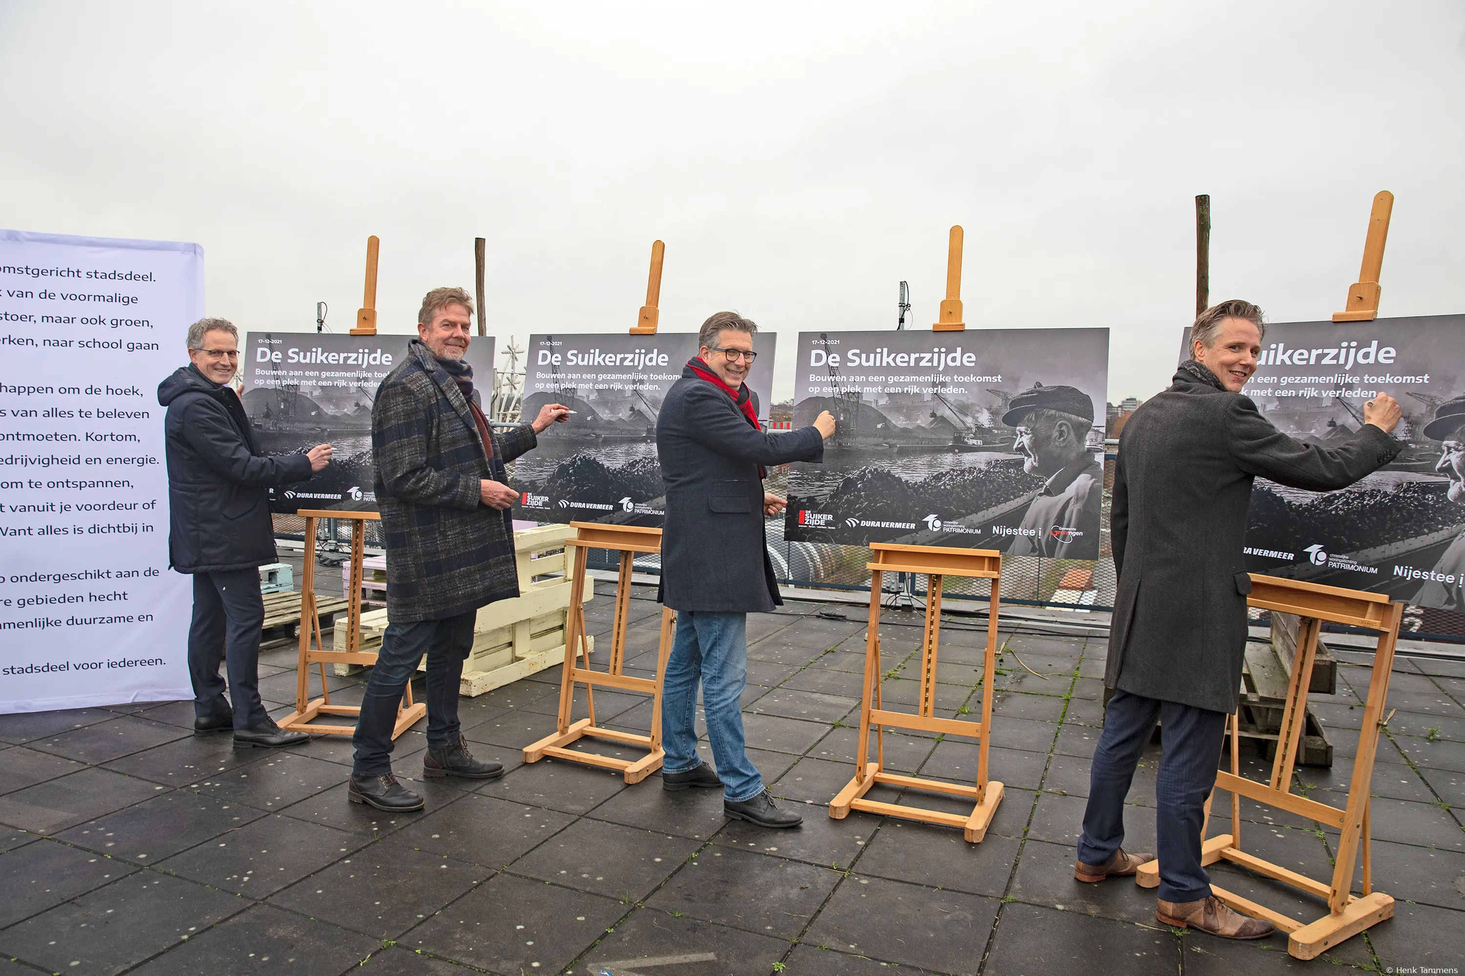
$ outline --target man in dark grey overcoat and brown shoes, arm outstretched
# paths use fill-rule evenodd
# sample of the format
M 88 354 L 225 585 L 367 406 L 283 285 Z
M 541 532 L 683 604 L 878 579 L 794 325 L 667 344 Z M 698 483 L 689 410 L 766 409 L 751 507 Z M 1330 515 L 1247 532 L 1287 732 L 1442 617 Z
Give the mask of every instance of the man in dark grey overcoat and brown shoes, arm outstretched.
M 1264 333 L 1261 309 L 1250 302 L 1206 309 L 1191 330 L 1191 359 L 1119 437 L 1110 511 L 1119 586 L 1105 670 L 1113 698 L 1094 750 L 1074 872 L 1080 881 L 1103 881 L 1132 875 L 1153 857 L 1119 844 L 1125 794 L 1159 720 L 1156 919 L 1244 939 L 1270 935 L 1273 926 L 1212 895 L 1200 832 L 1241 686 L 1251 482 L 1332 491 L 1387 465 L 1403 447 L 1389 435 L 1399 404 L 1386 393 L 1368 400 L 1364 426 L 1339 447 L 1277 431 L 1241 396 Z

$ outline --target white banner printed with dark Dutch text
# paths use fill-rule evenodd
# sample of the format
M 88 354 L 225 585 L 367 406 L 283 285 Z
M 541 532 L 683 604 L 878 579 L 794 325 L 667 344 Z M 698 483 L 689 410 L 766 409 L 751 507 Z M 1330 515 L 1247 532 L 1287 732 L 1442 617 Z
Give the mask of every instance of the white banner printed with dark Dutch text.
M 158 382 L 193 243 L 0 230 L 0 712 L 192 699 Z

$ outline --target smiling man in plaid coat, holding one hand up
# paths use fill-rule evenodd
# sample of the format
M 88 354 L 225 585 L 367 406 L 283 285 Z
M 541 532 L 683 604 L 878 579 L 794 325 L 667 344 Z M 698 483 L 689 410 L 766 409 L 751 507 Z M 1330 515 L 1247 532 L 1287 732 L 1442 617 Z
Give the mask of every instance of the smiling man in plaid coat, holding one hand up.
M 377 503 L 387 536 L 387 633 L 366 681 L 356 722 L 347 796 L 379 810 L 420 810 L 422 796 L 391 774 L 397 705 L 428 655 L 425 777 L 492 780 L 497 762 L 475 759 L 459 730 L 463 661 L 473 648 L 478 608 L 519 596 L 514 560 L 517 492 L 504 467 L 563 422 L 558 403 L 533 424 L 494 434 L 463 362 L 473 300 L 463 289 L 434 289 L 418 314 L 419 341 L 377 390 L 372 454 Z

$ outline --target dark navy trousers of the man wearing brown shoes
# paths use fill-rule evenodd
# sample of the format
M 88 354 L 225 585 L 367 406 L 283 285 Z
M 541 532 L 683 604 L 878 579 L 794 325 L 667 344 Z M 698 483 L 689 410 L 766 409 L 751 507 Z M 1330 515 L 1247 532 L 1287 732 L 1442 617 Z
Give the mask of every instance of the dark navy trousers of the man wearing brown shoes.
M 1113 693 L 1088 772 L 1088 809 L 1078 838 L 1078 860 L 1102 865 L 1124 843 L 1124 797 L 1156 720 L 1165 750 L 1154 783 L 1157 894 L 1165 901 L 1198 901 L 1210 895 L 1210 873 L 1200 863 L 1200 831 L 1206 797 L 1216 785 L 1220 744 L 1226 736 L 1225 712 Z

